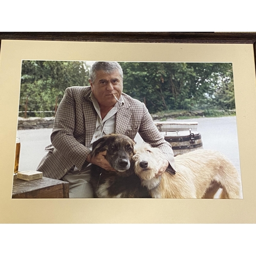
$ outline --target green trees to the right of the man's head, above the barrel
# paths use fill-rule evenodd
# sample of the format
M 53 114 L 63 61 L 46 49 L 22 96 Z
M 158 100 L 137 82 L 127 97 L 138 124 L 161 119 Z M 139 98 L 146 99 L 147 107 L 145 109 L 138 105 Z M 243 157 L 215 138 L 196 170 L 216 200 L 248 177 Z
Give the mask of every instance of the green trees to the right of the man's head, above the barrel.
M 231 63 L 120 62 L 124 92 L 151 113 L 234 108 Z

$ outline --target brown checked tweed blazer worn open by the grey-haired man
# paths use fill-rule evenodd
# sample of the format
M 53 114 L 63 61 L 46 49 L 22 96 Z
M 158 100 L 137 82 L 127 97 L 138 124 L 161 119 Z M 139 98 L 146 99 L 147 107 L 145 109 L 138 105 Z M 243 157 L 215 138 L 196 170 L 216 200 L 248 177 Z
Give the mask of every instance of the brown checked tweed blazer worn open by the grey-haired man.
M 96 125 L 97 113 L 89 100 L 91 87 L 69 87 L 65 91 L 56 113 L 51 134 L 52 144 L 37 170 L 44 177 L 61 179 L 76 166 L 82 170 L 91 152 L 88 148 Z M 116 114 L 115 133 L 134 139 L 137 132 L 153 147 L 159 147 L 170 163 L 167 170 L 175 173 L 174 154 L 155 126 L 144 103 L 122 93 L 123 106 Z

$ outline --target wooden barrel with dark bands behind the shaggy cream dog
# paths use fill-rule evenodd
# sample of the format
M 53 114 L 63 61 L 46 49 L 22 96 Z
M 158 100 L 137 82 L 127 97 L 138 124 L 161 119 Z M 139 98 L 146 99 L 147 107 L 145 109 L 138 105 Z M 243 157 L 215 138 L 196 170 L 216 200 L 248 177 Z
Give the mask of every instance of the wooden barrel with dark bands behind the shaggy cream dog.
M 163 134 L 172 145 L 175 156 L 203 148 L 201 134 L 197 131 L 169 131 Z

